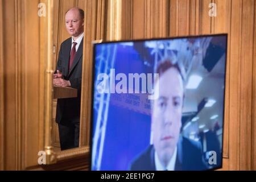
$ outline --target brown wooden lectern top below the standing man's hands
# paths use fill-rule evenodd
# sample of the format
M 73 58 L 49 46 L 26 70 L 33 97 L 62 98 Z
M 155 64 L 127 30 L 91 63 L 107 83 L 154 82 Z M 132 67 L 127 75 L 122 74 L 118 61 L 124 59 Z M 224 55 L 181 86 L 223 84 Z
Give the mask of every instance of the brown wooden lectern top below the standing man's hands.
M 53 86 L 53 98 L 77 97 L 77 89 L 71 87 Z

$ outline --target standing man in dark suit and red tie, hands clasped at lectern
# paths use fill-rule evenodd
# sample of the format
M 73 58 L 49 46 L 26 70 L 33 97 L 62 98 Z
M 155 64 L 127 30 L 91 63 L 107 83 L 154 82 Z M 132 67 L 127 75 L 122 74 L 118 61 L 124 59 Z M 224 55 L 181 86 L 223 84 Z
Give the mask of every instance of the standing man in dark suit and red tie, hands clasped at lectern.
M 53 85 L 76 88 L 77 98 L 57 100 L 56 122 L 61 150 L 79 146 L 84 11 L 76 7 L 69 9 L 65 14 L 65 26 L 72 37 L 60 46 Z

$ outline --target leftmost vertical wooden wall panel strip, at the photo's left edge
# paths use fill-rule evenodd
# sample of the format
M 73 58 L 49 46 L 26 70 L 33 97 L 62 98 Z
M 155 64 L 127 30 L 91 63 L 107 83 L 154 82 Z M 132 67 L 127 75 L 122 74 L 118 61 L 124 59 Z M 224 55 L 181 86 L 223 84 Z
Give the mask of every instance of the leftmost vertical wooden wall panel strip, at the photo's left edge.
M 8 11 L 6 11 L 8 10 Z M 3 32 L 5 36 L 3 37 L 3 44 L 9 43 L 15 45 L 15 1 L 3 1 L 3 19 L 9 19 L 5 21 L 5 26 L 3 27 Z M 8 38 L 8 40 L 7 40 Z M 5 52 L 5 60 L 8 60 L 6 64 L 3 64 L 4 71 L 4 98 L 5 98 L 5 168 L 4 169 L 17 169 L 16 162 L 16 140 L 18 138 L 15 128 L 15 123 L 18 123 L 16 114 L 17 98 L 16 92 L 16 56 L 15 47 L 11 48 L 3 47 L 3 52 Z M 10 89 L 12 88 L 12 89 Z M 8 154 L 8 155 L 7 155 Z

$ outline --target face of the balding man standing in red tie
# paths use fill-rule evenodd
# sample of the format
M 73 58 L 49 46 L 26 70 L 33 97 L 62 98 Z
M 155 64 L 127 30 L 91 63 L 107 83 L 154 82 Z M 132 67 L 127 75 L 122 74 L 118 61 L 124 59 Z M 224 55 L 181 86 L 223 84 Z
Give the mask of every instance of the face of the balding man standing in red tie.
M 79 10 L 71 9 L 65 15 L 65 26 L 68 33 L 74 37 L 79 36 L 84 31 L 84 20 L 81 18 Z

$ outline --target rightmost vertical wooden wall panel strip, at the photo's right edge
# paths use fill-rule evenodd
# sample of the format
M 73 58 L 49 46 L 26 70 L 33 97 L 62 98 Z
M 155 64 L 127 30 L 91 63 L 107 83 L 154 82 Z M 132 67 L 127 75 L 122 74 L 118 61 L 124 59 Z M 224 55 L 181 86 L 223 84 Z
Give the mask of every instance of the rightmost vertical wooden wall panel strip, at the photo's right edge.
M 240 170 L 251 169 L 254 0 L 242 2 Z

